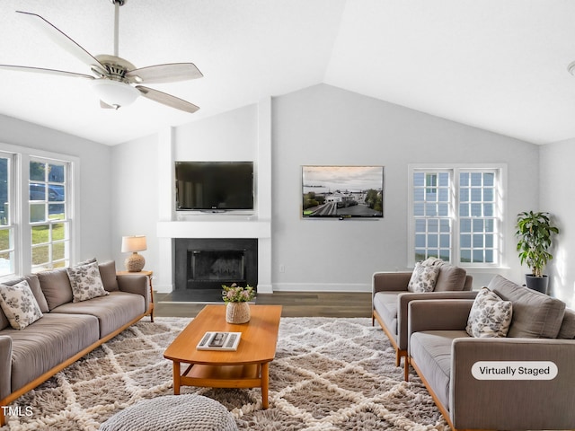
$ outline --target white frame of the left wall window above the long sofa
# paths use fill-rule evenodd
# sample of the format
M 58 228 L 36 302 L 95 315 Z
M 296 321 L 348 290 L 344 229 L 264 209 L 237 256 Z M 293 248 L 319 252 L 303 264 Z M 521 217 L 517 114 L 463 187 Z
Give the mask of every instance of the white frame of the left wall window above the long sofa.
M 11 207 L 14 226 L 14 264 L 13 275 L 5 275 L 0 280 L 14 276 L 31 274 L 31 223 L 30 223 L 30 162 L 43 159 L 68 163 L 66 172 L 69 181 L 66 189 L 66 215 L 69 219 L 69 259 L 78 260 L 80 252 L 80 159 L 70 154 L 52 153 L 18 145 L 0 143 L 0 152 L 13 155 L 13 170 L 11 172 L 11 192 L 13 207 Z

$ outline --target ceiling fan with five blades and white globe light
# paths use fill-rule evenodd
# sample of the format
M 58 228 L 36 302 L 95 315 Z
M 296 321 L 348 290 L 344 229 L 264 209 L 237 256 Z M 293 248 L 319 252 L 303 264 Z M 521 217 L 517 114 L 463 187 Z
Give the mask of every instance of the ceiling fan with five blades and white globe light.
M 177 110 L 184 110 L 190 113 L 199 110 L 198 106 L 189 101 L 184 101 L 171 94 L 140 85 L 173 83 L 202 77 L 203 75 L 199 72 L 198 67 L 193 63 L 169 63 L 136 68 L 128 60 L 118 56 L 119 6 L 125 4 L 125 2 L 126 0 L 111 0 L 115 7 L 113 56 L 99 55 L 94 57 L 40 15 L 16 11 L 50 40 L 57 43 L 60 48 L 64 48 L 69 54 L 89 66 L 93 75 L 30 66 L 0 65 L 0 69 L 89 79 L 93 84 L 94 91 L 100 97 L 100 106 L 106 109 L 118 110 L 120 107 L 136 101 L 137 97 L 141 95 Z

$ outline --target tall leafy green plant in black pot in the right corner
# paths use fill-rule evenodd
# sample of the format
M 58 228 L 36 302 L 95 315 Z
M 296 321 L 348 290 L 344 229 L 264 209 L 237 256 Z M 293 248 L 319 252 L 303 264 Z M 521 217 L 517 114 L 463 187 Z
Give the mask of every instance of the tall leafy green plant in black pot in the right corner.
M 531 274 L 526 274 L 526 286 L 539 292 L 547 293 L 548 277 L 543 269 L 547 261 L 553 259 L 548 251 L 551 247 L 553 234 L 559 229 L 551 223 L 549 213 L 533 211 L 517 215 L 517 251 L 521 265 L 531 268 Z

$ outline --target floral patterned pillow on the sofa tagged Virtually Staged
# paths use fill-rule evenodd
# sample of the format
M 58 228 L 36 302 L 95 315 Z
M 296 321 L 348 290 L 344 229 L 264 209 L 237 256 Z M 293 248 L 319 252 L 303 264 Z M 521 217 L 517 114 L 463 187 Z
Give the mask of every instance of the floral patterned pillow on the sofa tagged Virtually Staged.
M 506 337 L 513 316 L 511 301 L 503 301 L 487 287 L 475 296 L 465 330 L 475 338 Z

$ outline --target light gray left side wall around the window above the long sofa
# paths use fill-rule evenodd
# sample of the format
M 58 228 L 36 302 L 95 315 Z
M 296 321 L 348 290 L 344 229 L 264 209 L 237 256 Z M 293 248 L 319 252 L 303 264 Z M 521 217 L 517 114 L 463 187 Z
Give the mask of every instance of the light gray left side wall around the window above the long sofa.
M 78 259 L 112 259 L 111 147 L 3 115 L 0 115 L 1 144 L 79 157 L 81 242 Z

